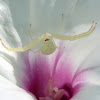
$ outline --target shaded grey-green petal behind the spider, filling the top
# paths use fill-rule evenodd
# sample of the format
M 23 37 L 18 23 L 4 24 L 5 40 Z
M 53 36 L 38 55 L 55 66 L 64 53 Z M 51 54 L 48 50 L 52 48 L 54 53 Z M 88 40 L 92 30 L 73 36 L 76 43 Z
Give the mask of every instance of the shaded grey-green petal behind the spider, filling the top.
M 90 23 L 93 20 L 98 22 L 100 16 L 98 0 L 96 2 L 93 0 L 8 0 L 8 2 L 15 27 L 24 42 L 29 39 L 29 24 L 32 24 L 31 32 L 34 38 L 44 32 L 59 33 L 62 14 L 64 14 L 64 22 L 60 33 L 68 32 L 82 23 Z

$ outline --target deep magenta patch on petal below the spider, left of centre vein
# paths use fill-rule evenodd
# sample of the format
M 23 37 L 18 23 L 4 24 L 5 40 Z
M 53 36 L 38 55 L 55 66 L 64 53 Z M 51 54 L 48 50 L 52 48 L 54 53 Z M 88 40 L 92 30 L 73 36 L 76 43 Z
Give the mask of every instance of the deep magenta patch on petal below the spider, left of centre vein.
M 29 72 L 26 74 L 31 73 L 31 76 L 29 77 L 30 85 L 28 87 L 28 91 L 35 94 L 37 98 L 46 96 L 46 86 L 51 77 L 50 73 L 52 71 L 48 64 L 47 57 L 37 54 L 33 61 L 33 65 L 31 65 L 31 72 L 28 68 L 29 67 L 27 66 L 27 71 Z M 26 79 L 24 81 L 26 81 Z M 25 83 L 25 85 L 27 84 Z

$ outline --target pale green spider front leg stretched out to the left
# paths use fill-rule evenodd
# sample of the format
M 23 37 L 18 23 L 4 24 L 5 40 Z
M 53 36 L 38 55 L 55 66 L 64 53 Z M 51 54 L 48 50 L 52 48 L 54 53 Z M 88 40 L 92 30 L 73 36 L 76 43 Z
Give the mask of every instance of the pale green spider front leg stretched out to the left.
M 34 47 L 35 45 L 37 45 L 41 41 L 41 38 L 36 38 L 32 42 L 30 42 L 29 44 L 25 45 L 24 47 L 17 47 L 17 48 L 8 48 L 3 44 L 1 39 L 0 39 L 0 41 L 1 41 L 2 46 L 5 49 L 7 49 L 8 51 L 24 52 L 24 51 L 27 51 L 30 48 Z

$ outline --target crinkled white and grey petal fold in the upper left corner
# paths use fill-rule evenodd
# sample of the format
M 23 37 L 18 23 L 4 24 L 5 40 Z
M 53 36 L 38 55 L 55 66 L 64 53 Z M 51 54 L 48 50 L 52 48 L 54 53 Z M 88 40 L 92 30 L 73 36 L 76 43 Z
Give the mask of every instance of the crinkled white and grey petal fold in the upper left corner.
M 21 40 L 14 28 L 10 9 L 6 2 L 2 0 L 0 0 L 0 22 L 0 39 L 2 39 L 7 46 L 11 44 L 18 46 L 18 42 L 20 43 Z

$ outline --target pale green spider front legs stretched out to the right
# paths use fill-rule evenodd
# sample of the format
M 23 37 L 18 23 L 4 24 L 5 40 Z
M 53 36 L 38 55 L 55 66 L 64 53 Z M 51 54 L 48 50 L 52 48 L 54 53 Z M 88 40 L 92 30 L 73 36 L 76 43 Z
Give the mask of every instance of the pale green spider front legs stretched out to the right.
M 52 37 L 57 38 L 57 39 L 73 41 L 76 39 L 80 39 L 80 38 L 84 38 L 86 36 L 89 36 L 95 30 L 96 24 L 97 23 L 95 23 L 95 25 L 94 25 L 94 21 L 93 21 L 91 28 L 87 32 L 84 32 L 84 33 L 81 33 L 78 35 L 74 35 L 74 36 L 58 35 L 58 34 L 51 34 L 51 35 L 52 35 Z

